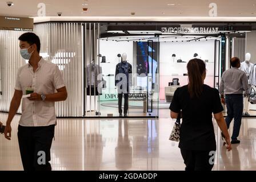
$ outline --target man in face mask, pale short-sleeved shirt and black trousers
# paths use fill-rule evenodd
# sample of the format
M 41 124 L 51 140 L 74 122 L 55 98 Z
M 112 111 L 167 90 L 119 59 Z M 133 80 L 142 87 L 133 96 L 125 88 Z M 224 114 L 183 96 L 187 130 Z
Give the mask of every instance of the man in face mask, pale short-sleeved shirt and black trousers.
M 18 69 L 5 138 L 11 139 L 11 121 L 22 99 L 18 141 L 23 168 L 25 171 L 50 171 L 50 148 L 57 124 L 54 102 L 66 100 L 67 90 L 58 66 L 39 56 L 41 43 L 38 36 L 27 32 L 19 40 L 21 56 L 29 63 Z M 28 86 L 34 92 L 30 97 L 22 98 Z

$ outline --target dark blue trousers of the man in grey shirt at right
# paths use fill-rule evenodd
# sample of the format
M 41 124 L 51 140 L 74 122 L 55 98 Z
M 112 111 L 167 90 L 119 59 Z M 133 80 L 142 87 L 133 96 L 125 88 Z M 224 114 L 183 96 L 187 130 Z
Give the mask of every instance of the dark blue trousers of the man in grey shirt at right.
M 234 118 L 234 129 L 231 139 L 237 139 L 241 127 L 242 114 L 243 114 L 243 95 L 230 94 L 225 97 L 227 106 L 226 123 L 229 129 L 230 123 Z

